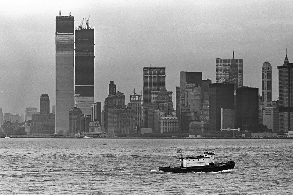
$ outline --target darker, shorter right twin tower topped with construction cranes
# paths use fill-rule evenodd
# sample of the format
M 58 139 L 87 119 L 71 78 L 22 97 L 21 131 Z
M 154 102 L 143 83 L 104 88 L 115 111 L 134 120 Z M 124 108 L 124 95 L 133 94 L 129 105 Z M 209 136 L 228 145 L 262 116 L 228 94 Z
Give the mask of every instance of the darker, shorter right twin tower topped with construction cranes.
M 94 58 L 94 28 L 75 28 L 74 105 L 84 115 L 91 114 L 94 104 Z

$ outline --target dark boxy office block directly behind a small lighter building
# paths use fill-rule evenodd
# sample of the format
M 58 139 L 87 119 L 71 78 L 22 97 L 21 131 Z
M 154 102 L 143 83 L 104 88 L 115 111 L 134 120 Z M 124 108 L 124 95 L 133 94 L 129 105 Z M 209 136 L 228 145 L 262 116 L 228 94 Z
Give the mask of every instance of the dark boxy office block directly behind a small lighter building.
M 234 110 L 234 84 L 209 84 L 209 131 L 221 130 L 221 107 Z

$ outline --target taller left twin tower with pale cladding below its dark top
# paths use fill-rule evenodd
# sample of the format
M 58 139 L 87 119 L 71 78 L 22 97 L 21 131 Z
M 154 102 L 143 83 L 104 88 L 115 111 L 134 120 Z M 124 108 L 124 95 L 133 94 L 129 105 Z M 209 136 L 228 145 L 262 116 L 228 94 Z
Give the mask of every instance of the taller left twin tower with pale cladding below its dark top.
M 56 134 L 69 133 L 68 113 L 74 107 L 74 17 L 56 16 Z

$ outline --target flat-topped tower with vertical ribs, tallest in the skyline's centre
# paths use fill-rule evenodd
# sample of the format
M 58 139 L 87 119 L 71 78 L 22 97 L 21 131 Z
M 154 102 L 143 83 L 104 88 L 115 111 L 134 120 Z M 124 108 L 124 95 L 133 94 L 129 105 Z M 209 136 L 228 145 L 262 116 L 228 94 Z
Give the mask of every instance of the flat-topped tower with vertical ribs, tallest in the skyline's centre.
M 151 103 L 151 92 L 166 89 L 166 68 L 143 68 L 143 106 Z

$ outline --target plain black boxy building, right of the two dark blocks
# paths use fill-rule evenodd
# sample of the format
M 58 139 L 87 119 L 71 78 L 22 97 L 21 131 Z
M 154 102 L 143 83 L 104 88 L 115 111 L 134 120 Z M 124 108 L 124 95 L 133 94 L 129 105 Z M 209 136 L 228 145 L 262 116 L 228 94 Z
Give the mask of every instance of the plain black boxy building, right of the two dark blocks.
M 256 130 L 259 124 L 259 88 L 241 87 L 236 90 L 236 128 Z

